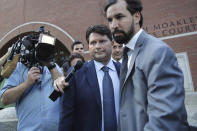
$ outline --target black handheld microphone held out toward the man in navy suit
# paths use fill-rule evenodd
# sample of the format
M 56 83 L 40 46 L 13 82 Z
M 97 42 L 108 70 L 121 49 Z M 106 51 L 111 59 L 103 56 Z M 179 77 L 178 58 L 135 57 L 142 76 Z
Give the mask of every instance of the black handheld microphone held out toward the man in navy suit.
M 74 72 L 79 70 L 83 65 L 83 62 L 82 61 L 77 61 L 77 63 L 74 65 L 74 66 L 71 66 L 68 70 L 68 74 L 66 75 L 66 78 L 65 78 L 65 82 L 68 82 L 70 80 L 70 78 L 73 76 Z M 65 90 L 66 88 L 64 88 Z M 58 92 L 56 90 L 54 90 L 51 95 L 49 96 L 49 98 L 52 100 L 52 101 L 56 101 L 57 98 L 59 96 L 61 96 L 61 92 Z

